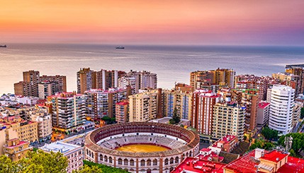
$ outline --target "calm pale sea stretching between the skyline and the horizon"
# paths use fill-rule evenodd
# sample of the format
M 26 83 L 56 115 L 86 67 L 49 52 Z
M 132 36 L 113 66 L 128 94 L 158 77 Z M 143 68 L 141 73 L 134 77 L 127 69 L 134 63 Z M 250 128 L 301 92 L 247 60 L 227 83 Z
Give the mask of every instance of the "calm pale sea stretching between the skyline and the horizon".
M 170 46 L 106 44 L 8 44 L 0 48 L 0 94 L 13 93 L 23 71 L 67 76 L 67 90 L 77 90 L 77 71 L 91 68 L 157 73 L 159 88 L 189 83 L 191 71 L 233 68 L 238 74 L 271 76 L 286 64 L 304 64 L 304 47 Z

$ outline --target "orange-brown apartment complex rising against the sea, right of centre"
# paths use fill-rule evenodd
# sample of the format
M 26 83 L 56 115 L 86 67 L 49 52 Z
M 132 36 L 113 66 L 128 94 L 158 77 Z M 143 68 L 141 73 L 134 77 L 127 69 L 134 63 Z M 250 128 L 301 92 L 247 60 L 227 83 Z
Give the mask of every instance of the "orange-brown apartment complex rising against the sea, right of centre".
M 218 68 L 210 71 L 193 71 L 190 73 L 190 85 L 193 88 L 206 88 L 206 85 L 227 85 L 233 88 L 235 71 L 232 69 Z

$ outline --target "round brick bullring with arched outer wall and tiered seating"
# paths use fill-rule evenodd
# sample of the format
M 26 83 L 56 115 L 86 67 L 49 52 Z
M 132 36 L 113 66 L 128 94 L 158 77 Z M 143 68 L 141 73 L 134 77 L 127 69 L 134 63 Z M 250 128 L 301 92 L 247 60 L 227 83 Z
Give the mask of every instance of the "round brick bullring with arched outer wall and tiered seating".
M 85 157 L 128 172 L 169 173 L 199 152 L 199 136 L 180 126 L 131 122 L 96 129 L 86 136 Z

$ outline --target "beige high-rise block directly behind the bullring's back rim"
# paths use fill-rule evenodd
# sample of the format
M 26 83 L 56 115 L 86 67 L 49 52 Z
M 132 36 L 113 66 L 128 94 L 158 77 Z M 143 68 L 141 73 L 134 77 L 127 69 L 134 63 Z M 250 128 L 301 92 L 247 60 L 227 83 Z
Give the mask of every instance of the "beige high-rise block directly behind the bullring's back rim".
M 159 110 L 159 90 L 148 90 L 129 96 L 129 121 L 150 121 L 157 118 Z

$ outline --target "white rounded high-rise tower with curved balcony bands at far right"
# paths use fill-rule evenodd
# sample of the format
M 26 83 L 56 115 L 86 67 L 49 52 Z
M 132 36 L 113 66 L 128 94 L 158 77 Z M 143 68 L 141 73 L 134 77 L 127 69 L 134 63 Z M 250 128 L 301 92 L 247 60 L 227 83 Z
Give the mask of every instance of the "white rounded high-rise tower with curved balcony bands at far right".
M 271 89 L 269 128 L 286 135 L 293 128 L 295 90 L 286 85 L 274 85 Z

